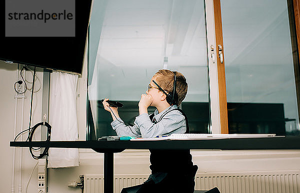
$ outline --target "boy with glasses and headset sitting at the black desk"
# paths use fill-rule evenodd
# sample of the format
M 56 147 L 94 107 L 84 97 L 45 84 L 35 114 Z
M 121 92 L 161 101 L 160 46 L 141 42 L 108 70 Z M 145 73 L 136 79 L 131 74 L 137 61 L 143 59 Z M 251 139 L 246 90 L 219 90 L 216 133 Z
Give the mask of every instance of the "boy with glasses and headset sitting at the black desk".
M 120 119 L 117 108 L 110 107 L 107 98 L 103 106 L 111 113 L 111 126 L 117 135 L 148 138 L 184 133 L 188 128 L 187 120 L 177 106 L 186 92 L 186 79 L 180 72 L 160 69 L 151 78 L 146 94 L 141 94 L 139 115 L 135 117 L 133 126 L 126 125 Z M 150 116 L 148 106 L 156 107 Z M 151 175 L 143 184 L 123 188 L 122 192 L 193 192 L 197 166 L 191 162 L 189 149 L 149 150 Z

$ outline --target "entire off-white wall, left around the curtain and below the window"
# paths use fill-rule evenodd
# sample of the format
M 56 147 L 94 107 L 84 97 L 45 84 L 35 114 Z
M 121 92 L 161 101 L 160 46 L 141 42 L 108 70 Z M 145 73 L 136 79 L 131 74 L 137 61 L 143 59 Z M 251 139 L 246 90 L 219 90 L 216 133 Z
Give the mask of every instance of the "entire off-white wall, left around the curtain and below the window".
M 42 79 L 42 72 L 37 75 Z M 7 64 L 0 61 L 0 186 L 1 192 L 10 192 L 11 170 L 12 170 L 12 149 L 9 141 L 13 140 L 13 118 L 14 118 L 14 95 L 13 83 L 16 77 L 16 64 Z M 78 123 L 79 139 L 85 139 L 85 92 L 84 76 L 79 79 L 78 99 Z M 29 122 L 30 93 L 26 93 L 24 107 L 24 127 Z M 33 106 L 36 109 L 33 113 L 32 124 L 41 121 L 41 91 L 34 94 Z M 18 102 L 21 106 L 21 102 Z M 18 113 L 18 125 L 20 127 L 20 114 Z M 37 134 L 38 135 L 38 134 Z M 193 162 L 198 165 L 198 172 L 230 172 L 230 171 L 279 171 L 279 170 L 300 170 L 300 150 L 192 150 Z M 79 181 L 80 174 L 102 174 L 103 154 L 95 153 L 89 149 L 80 149 L 80 166 L 73 168 L 48 169 L 48 192 L 81 192 L 79 188 L 69 188 L 67 183 Z M 15 192 L 18 188 L 18 157 L 19 148 L 16 149 L 16 170 L 15 170 Z M 149 173 L 149 152 L 148 150 L 125 150 L 115 153 L 115 173 Z M 28 176 L 36 160 L 31 157 L 28 148 L 23 148 L 22 167 L 22 192 L 25 192 Z M 27 192 L 37 192 L 37 170 L 35 168 L 28 185 Z

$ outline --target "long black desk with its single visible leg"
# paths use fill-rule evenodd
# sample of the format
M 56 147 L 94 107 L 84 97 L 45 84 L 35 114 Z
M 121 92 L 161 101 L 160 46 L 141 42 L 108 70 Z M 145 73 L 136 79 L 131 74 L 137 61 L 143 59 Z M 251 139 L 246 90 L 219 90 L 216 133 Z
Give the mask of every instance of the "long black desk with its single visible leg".
M 18 147 L 91 148 L 104 153 L 104 192 L 113 192 L 113 153 L 124 149 L 300 149 L 300 136 L 155 141 L 10 141 Z

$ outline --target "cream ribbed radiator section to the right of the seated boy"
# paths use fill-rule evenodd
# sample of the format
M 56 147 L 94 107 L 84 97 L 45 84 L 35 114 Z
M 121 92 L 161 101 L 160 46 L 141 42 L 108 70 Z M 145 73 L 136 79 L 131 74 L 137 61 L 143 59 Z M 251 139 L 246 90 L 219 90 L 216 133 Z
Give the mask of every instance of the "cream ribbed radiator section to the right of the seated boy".
M 197 173 L 195 189 L 218 187 L 222 193 L 299 193 L 299 171 L 280 173 Z

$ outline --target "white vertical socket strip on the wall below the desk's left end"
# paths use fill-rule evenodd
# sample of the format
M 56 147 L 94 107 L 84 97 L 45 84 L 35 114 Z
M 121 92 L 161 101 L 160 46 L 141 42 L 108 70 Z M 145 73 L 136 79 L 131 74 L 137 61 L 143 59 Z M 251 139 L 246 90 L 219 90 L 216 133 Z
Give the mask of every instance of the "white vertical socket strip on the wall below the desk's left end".
M 38 159 L 37 167 L 37 192 L 47 192 L 47 159 Z

